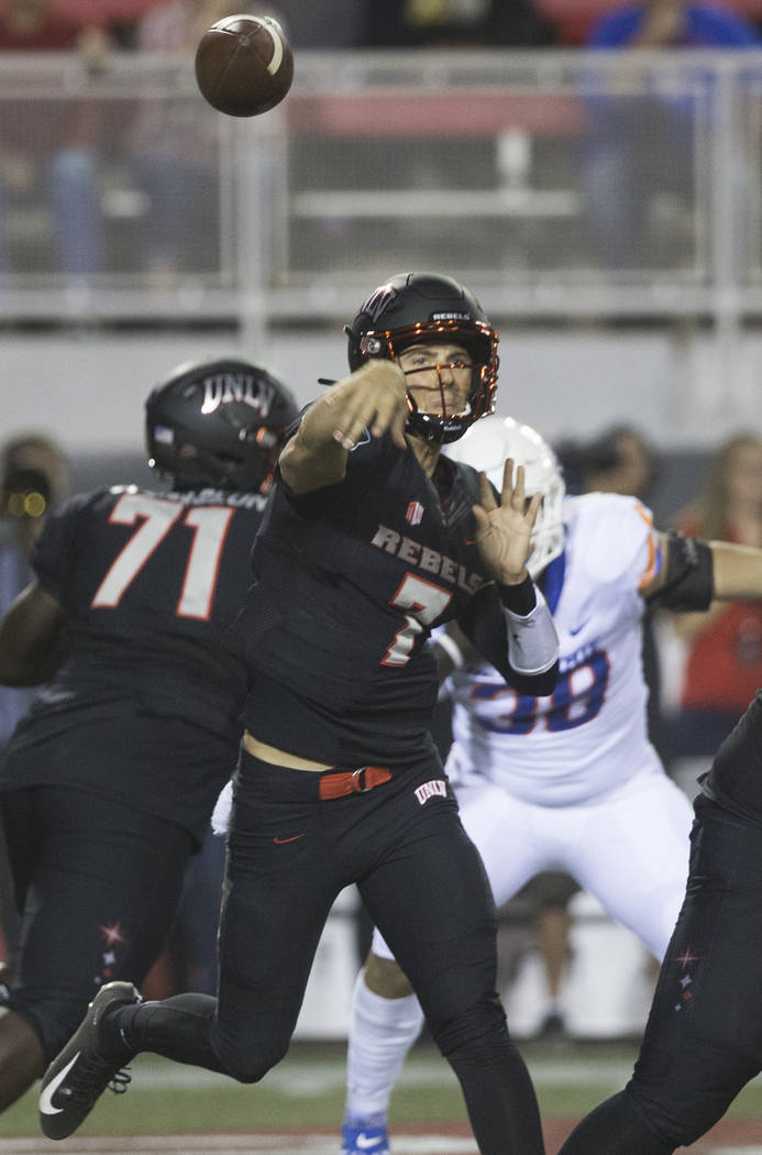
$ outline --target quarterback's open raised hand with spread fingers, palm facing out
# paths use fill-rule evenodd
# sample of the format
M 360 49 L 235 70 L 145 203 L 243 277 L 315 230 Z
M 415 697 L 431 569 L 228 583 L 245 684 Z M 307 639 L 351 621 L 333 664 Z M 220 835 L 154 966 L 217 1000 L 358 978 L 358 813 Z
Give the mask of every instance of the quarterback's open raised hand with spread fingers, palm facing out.
M 503 468 L 500 505 L 485 474 L 479 474 L 479 492 L 481 502 L 473 507 L 473 516 L 481 560 L 495 581 L 503 586 L 517 586 L 526 578 L 530 538 L 543 494 L 535 493 L 531 500 L 526 500 L 524 467 L 516 469 L 514 484 L 513 457 L 508 457 Z

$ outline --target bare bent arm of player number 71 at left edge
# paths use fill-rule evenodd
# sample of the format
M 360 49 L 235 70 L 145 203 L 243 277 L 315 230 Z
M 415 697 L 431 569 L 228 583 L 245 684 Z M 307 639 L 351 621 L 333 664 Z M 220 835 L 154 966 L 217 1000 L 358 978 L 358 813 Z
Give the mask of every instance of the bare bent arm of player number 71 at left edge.
M 0 684 L 37 686 L 58 665 L 64 608 L 38 581 L 17 596 L 0 623 Z

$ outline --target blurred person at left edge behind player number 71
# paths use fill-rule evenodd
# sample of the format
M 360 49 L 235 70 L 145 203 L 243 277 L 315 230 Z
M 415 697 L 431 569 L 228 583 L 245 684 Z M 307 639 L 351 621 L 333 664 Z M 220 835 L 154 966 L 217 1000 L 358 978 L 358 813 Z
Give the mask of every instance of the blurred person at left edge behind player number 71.
M 45 433 L 22 433 L 0 449 L 0 618 L 32 580 L 29 556 L 50 511 L 69 490 L 69 467 Z M 0 688 L 0 753 L 39 687 Z M 2 839 L 0 836 L 0 843 Z M 0 844 L 0 981 L 12 969 L 17 925 L 5 843 Z

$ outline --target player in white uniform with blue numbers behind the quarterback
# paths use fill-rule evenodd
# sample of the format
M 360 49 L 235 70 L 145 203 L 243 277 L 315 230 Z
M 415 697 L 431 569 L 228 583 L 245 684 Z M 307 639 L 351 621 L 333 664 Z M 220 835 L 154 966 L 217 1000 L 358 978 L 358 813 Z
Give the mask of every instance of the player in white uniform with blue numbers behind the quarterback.
M 555 691 L 531 698 L 506 686 L 462 635 L 434 636 L 454 701 L 446 769 L 495 903 L 562 869 L 662 959 L 685 893 L 693 812 L 648 739 L 645 597 L 705 609 L 712 596 L 741 596 L 753 579 L 737 568 L 739 547 L 663 534 L 635 498 L 566 497 L 550 446 L 511 418 L 479 422 L 450 452 L 491 477 L 513 457 L 526 493 L 543 491 L 528 567 L 560 644 Z M 342 1155 L 388 1155 L 389 1095 L 421 1026 L 376 930 L 354 989 Z

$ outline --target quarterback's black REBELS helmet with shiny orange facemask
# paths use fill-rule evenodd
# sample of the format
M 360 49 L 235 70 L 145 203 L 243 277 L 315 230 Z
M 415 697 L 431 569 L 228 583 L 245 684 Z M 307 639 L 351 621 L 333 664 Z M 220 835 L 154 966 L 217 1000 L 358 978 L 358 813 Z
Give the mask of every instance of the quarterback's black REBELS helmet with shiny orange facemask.
M 438 273 L 401 273 L 379 285 L 344 329 L 349 364 L 359 368 L 372 357 L 396 360 L 408 345 L 439 337 L 464 345 L 473 358 L 471 392 L 462 413 L 423 413 L 410 393 L 406 429 L 414 437 L 446 445 L 469 425 L 494 412 L 498 387 L 498 334 L 478 300 L 453 277 Z

